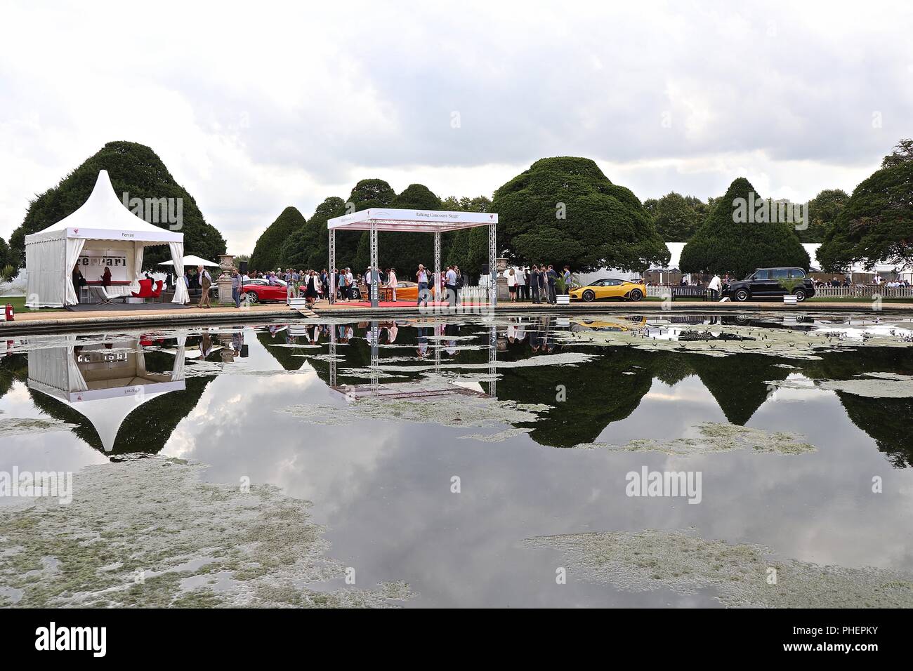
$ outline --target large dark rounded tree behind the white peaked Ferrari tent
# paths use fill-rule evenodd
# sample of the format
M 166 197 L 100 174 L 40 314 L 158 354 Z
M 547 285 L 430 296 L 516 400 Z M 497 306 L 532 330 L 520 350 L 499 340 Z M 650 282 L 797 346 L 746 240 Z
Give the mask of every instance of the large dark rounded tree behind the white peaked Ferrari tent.
M 225 238 L 218 230 L 206 224 L 203 214 L 191 194 L 174 181 L 162 159 L 149 147 L 136 142 L 108 142 L 99 152 L 90 156 L 57 186 L 37 196 L 28 205 L 28 212 L 22 225 L 10 237 L 13 264 L 26 264 L 26 235 L 37 233 L 47 226 L 56 224 L 65 216 L 73 214 L 86 202 L 99 171 L 107 170 L 114 192 L 122 197 L 156 199 L 180 198 L 182 217 L 180 232 L 184 234 L 184 254 L 195 254 L 210 260 L 217 260 L 226 253 Z M 168 228 L 168 222 L 150 222 Z M 143 265 L 152 267 L 171 259 L 167 245 L 146 247 Z

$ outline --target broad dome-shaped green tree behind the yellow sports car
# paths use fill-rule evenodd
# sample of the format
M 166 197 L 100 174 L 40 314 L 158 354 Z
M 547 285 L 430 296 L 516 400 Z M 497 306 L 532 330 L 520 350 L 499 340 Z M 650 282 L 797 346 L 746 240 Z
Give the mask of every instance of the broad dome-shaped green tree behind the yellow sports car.
M 495 192 L 498 248 L 574 270 L 666 265 L 669 251 L 629 189 L 590 159 L 540 159 Z

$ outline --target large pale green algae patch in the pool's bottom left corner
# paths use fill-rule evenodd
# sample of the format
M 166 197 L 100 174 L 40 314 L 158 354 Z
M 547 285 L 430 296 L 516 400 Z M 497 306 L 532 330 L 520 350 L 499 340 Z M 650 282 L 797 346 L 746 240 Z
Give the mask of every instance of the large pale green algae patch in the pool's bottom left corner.
M 201 482 L 202 469 L 162 457 L 90 466 L 68 506 L 0 507 L 0 606 L 383 607 L 411 595 L 402 583 L 315 589 L 344 569 L 310 503 Z

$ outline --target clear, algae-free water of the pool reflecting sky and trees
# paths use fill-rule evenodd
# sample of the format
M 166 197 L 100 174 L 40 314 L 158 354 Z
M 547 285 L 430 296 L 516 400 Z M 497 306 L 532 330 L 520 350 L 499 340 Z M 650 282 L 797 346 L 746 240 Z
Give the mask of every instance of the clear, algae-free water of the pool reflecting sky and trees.
M 5 436 L 0 470 L 68 468 L 143 452 L 199 460 L 215 483 L 274 483 L 314 502 L 332 556 L 357 566 L 360 584 L 410 582 L 421 597 L 407 605 L 714 605 L 706 592 L 631 594 L 574 580 L 556 590 L 561 555 L 531 550 L 522 540 L 588 530 L 693 527 L 705 539 L 763 543 L 801 561 L 913 571 L 913 539 L 903 532 L 913 501 L 910 399 L 813 386 L 874 372 L 913 374 L 907 347 L 863 344 L 872 330 L 902 338 L 908 323 L 868 321 L 300 321 L 21 339 L 0 358 L 0 425 L 44 414 L 74 427 Z M 751 337 L 853 330 L 858 342 L 816 358 L 596 343 L 601 333 L 628 338 L 647 330 L 687 348 L 687 337 L 679 342 L 683 332 L 736 328 L 750 329 Z M 809 385 L 771 394 L 768 385 L 785 380 Z M 183 387 L 166 391 L 161 384 Z M 73 393 L 111 395 L 76 401 Z M 333 425 L 307 421 L 316 410 L 313 417 L 279 412 L 301 406 L 343 415 L 372 396 L 394 394 L 389 400 L 398 403 L 397 393 L 432 409 L 487 399 L 549 407 L 535 411 L 538 421 L 511 425 L 527 433 L 497 443 L 467 435 L 498 436 L 508 426 L 470 430 L 442 425 L 434 413 L 424 423 L 362 415 Z M 697 422 L 795 432 L 817 451 L 669 456 L 555 449 L 667 439 L 687 435 Z M 703 471 L 702 504 L 626 498 L 624 473 L 644 465 Z M 462 481 L 458 496 L 450 491 L 454 476 Z M 873 476 L 883 478 L 883 494 L 871 492 Z

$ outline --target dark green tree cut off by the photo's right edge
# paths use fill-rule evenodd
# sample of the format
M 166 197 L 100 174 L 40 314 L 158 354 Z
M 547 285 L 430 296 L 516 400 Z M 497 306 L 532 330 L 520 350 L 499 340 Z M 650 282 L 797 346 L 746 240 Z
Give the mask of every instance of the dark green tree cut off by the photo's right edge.
M 913 261 L 913 141 L 902 140 L 877 170 L 856 186 L 818 247 L 828 272 L 879 261 Z

